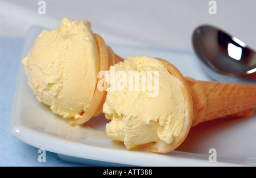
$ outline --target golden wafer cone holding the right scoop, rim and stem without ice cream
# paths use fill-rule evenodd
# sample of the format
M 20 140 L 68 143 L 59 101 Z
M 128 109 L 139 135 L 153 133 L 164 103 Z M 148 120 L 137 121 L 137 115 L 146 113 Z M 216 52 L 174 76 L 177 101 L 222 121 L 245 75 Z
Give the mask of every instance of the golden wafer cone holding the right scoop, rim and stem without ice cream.
M 148 143 L 141 147 L 156 153 L 166 153 L 178 147 L 189 133 L 189 129 L 201 122 L 221 117 L 249 117 L 256 107 L 256 85 L 233 84 L 214 81 L 196 81 L 183 77 L 179 69 L 168 61 L 156 58 L 179 80 L 187 105 L 187 117 L 183 129 L 171 144 Z

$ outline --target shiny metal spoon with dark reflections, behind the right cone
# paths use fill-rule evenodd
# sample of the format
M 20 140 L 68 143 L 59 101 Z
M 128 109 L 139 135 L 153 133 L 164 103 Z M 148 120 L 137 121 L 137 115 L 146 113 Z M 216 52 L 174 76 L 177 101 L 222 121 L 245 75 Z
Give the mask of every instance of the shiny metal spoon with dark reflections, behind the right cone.
M 214 80 L 256 84 L 256 53 L 241 40 L 204 25 L 193 32 L 192 42 L 205 71 Z

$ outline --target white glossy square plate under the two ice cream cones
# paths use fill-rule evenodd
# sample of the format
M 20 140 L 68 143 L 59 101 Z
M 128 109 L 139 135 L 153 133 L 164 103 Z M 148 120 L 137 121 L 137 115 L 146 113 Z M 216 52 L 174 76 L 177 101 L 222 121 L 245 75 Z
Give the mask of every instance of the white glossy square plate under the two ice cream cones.
M 26 56 L 37 35 L 43 30 L 32 27 L 24 43 Z M 110 45 L 122 57 L 147 55 L 166 59 L 184 76 L 210 80 L 190 51 L 170 51 L 141 47 Z M 13 136 L 30 144 L 56 152 L 68 162 L 92 165 L 139 166 L 222 166 L 256 165 L 256 115 L 241 119 L 216 119 L 192 127 L 187 139 L 175 151 L 167 154 L 126 150 L 105 133 L 109 121 L 104 115 L 90 119 L 87 126 L 69 126 L 69 122 L 53 114 L 48 106 L 38 102 L 27 85 L 27 76 L 20 65 L 11 113 Z M 210 148 L 217 153 L 217 162 L 209 162 Z

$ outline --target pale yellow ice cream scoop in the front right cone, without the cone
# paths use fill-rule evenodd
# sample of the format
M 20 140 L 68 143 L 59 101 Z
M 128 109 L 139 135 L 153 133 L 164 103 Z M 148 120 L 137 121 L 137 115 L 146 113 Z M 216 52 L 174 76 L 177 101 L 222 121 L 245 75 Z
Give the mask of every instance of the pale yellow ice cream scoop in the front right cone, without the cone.
M 141 74 L 140 80 L 136 82 L 134 77 L 130 82 L 135 71 Z M 147 80 L 142 79 L 145 74 Z M 124 142 L 130 149 L 151 142 L 170 144 L 179 136 L 185 118 L 183 93 L 160 61 L 147 56 L 127 57 L 110 67 L 106 81 L 109 91 L 103 112 L 111 119 L 106 125 L 110 138 Z

